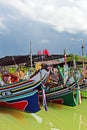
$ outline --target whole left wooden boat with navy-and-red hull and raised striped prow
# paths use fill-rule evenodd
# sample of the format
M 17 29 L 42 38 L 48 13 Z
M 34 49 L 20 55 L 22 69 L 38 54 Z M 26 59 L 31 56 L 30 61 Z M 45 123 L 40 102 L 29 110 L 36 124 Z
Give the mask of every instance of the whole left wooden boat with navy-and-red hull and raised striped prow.
M 48 72 L 41 70 L 31 79 L 0 86 L 0 106 L 30 113 L 39 111 L 38 91 L 47 78 Z

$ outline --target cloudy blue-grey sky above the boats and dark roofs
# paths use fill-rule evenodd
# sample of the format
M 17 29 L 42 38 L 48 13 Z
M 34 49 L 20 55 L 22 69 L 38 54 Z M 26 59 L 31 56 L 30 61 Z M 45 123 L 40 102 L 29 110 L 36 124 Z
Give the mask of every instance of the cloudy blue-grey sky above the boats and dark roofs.
M 0 57 L 87 54 L 87 0 L 0 0 Z

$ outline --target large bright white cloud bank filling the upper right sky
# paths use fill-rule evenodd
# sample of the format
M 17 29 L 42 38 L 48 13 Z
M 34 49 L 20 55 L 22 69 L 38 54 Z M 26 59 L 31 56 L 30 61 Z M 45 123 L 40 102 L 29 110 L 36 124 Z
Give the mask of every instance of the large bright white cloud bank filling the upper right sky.
M 0 5 L 60 32 L 87 33 L 87 0 L 0 0 Z

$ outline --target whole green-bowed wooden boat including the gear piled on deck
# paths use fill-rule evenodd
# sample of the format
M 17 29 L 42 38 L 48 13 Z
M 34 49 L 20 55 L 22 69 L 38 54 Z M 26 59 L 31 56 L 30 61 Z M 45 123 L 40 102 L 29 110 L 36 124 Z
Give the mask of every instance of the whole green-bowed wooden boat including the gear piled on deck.
M 49 102 L 61 103 L 68 106 L 76 106 L 81 103 L 80 89 L 77 80 L 74 76 L 68 77 L 67 67 L 65 66 L 65 73 L 59 69 L 59 78 L 55 77 L 55 74 L 51 74 L 49 82 L 45 84 L 46 88 L 46 100 Z M 42 95 L 40 94 L 40 99 Z

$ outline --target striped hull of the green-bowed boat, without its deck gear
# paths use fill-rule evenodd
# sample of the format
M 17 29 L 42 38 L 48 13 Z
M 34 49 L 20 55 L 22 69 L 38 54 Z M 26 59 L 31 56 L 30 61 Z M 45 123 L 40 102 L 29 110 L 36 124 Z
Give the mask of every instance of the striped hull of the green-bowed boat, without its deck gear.
M 46 100 L 67 106 L 76 106 L 81 103 L 80 91 L 74 82 L 69 87 L 57 86 L 46 90 Z M 42 96 L 40 95 L 40 98 Z

